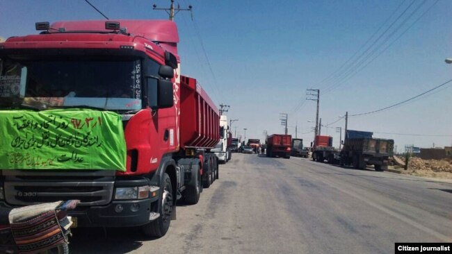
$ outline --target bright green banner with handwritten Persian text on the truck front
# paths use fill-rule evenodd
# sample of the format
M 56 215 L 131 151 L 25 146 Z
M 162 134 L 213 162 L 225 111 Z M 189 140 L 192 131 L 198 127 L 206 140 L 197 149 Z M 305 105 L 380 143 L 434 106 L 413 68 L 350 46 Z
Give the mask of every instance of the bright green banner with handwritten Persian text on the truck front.
M 0 110 L 0 169 L 125 171 L 122 117 L 115 112 Z

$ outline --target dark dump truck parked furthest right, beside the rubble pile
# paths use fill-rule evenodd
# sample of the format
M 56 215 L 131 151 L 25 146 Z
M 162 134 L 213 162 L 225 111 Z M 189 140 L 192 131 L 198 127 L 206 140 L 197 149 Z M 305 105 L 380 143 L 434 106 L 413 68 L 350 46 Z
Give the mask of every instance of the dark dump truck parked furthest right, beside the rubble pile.
M 394 140 L 372 135 L 371 132 L 347 130 L 340 153 L 341 166 L 352 165 L 355 169 L 364 169 L 373 164 L 376 171 L 385 171 L 394 153 Z

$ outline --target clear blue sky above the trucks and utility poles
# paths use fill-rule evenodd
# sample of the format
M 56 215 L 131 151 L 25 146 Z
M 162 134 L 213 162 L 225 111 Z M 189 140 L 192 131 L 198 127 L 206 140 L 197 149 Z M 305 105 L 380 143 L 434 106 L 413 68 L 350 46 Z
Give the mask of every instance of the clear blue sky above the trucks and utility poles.
M 152 4 L 170 4 L 90 2 L 110 19 L 167 19 Z M 449 0 L 177 3 L 181 8 L 193 5 L 193 21 L 190 12 L 175 18 L 181 73 L 197 78 L 218 105 L 230 105 L 229 119 L 239 119 L 232 133 L 237 127 L 243 137 L 248 128 L 247 139 L 264 139 L 264 130 L 284 133 L 279 120 L 284 112 L 289 133 L 295 136 L 297 125 L 298 137 L 309 145 L 314 134 L 307 132 L 314 123 L 308 121 L 315 120 L 316 103 L 305 100 L 307 88 L 321 90 L 320 117 L 329 124 L 346 111 L 378 110 L 452 79 L 452 65 L 444 62 L 452 58 Z M 83 0 L 0 0 L 0 37 L 37 33 L 35 22 L 102 18 Z M 334 89 L 328 92 L 328 87 Z M 330 127 L 344 124 L 341 119 Z M 348 128 L 392 138 L 399 151 L 405 144 L 451 146 L 452 83 L 390 110 L 350 117 Z M 324 127 L 322 134 L 332 135 L 338 146 L 334 128 Z

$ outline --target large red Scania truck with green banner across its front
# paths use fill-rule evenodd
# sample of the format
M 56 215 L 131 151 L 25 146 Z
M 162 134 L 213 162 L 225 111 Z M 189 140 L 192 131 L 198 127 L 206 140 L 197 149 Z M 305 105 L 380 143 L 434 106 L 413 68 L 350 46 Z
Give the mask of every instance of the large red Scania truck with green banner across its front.
M 80 227 L 166 234 L 218 179 L 215 103 L 166 20 L 35 24 L 0 43 L 0 205 L 79 199 Z

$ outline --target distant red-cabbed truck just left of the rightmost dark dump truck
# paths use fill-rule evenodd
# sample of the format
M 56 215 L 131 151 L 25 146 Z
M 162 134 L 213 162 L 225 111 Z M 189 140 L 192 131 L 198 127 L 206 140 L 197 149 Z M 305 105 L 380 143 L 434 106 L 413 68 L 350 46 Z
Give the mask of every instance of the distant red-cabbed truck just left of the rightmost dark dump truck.
M 316 162 L 328 161 L 330 164 L 339 162 L 339 151 L 332 146 L 332 137 L 316 135 L 312 146 L 312 160 Z

